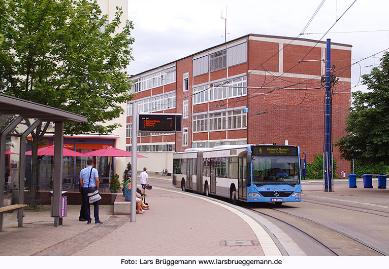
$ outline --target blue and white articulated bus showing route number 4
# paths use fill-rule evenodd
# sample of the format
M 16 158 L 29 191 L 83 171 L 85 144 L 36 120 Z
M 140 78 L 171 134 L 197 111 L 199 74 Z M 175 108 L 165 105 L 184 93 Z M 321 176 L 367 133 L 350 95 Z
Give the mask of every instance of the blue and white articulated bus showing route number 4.
M 243 202 L 301 202 L 300 148 L 223 145 L 173 154 L 173 185 Z

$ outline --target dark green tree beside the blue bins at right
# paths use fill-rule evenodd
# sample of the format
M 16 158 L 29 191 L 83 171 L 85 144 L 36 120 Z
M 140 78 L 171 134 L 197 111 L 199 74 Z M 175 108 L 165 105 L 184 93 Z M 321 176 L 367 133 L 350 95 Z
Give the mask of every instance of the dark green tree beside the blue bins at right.
M 362 75 L 369 92 L 352 93 L 345 132 L 335 143 L 341 157 L 362 163 L 389 163 L 389 52 L 370 74 Z

